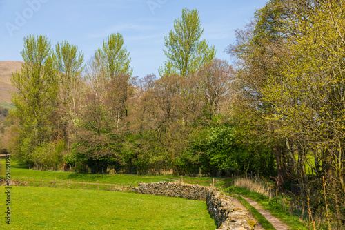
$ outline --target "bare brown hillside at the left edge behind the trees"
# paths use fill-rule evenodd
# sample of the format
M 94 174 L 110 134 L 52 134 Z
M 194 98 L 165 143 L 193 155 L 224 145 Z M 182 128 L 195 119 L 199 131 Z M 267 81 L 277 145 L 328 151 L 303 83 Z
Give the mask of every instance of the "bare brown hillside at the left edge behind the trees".
M 13 72 L 21 70 L 23 61 L 0 61 L 0 103 L 2 105 L 11 103 L 11 94 L 9 91 L 16 90 L 12 86 L 10 76 Z

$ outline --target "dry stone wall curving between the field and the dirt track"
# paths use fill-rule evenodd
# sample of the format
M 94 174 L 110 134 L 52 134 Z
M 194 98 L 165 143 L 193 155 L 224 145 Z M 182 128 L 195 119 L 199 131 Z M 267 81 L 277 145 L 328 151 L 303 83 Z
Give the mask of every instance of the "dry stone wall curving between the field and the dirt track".
M 181 182 L 141 183 L 133 188 L 139 194 L 176 196 L 190 200 L 206 200 L 210 216 L 215 220 L 217 230 L 252 230 L 255 222 L 249 220 L 244 209 L 236 208 L 231 200 L 212 187 L 189 185 Z

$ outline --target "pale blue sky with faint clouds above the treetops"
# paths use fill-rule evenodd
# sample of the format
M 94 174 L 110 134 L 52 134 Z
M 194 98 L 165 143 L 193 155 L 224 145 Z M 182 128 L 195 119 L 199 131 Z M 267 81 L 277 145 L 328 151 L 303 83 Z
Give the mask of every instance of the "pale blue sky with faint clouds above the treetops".
M 166 61 L 164 36 L 183 8 L 197 9 L 216 58 L 230 62 L 225 48 L 235 43 L 235 30 L 253 20 L 268 0 L 0 0 L 0 61 L 22 61 L 23 39 L 43 34 L 52 48 L 68 41 L 85 61 L 112 33 L 124 36 L 133 76 L 157 74 Z

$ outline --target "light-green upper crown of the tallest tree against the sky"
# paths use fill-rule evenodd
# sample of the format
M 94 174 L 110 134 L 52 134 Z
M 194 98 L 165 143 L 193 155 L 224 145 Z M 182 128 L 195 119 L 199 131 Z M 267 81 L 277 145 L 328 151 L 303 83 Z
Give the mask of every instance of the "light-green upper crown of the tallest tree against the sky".
M 159 67 L 161 76 L 179 74 L 186 77 L 215 57 L 215 47 L 209 48 L 205 39 L 199 41 L 204 29 L 201 29 L 197 10 L 184 8 L 181 18 L 175 20 L 174 30 L 164 36 L 164 45 L 168 48 L 164 54 L 168 61 Z

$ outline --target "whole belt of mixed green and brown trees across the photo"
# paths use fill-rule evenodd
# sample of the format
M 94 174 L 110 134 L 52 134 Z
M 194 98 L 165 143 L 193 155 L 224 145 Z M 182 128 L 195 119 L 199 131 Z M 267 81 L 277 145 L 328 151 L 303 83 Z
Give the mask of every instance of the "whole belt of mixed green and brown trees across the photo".
M 30 35 L 2 143 L 40 169 L 254 172 L 344 224 L 344 31 L 343 0 L 271 0 L 235 32 L 230 65 L 184 9 L 161 76 L 141 79 L 119 33 L 85 66 L 77 46 Z

